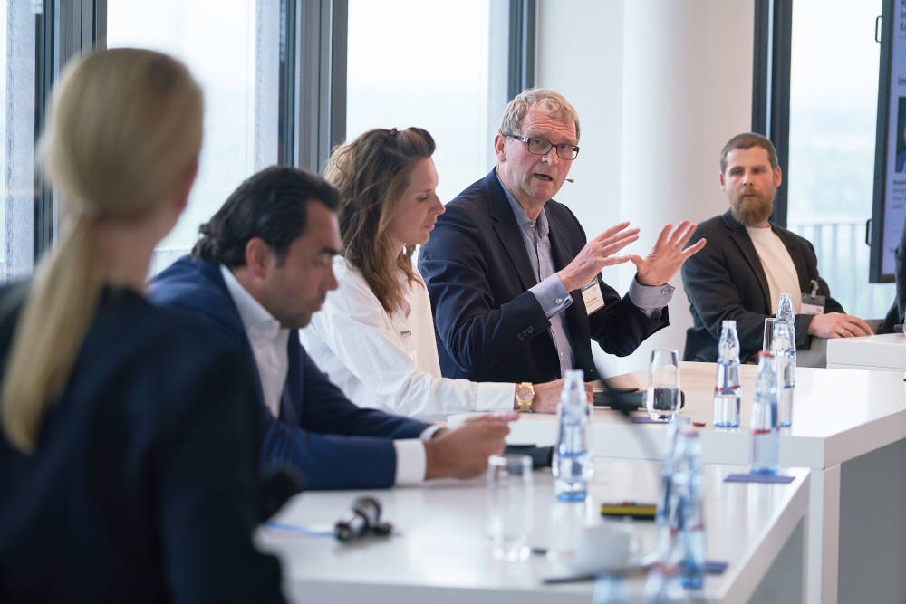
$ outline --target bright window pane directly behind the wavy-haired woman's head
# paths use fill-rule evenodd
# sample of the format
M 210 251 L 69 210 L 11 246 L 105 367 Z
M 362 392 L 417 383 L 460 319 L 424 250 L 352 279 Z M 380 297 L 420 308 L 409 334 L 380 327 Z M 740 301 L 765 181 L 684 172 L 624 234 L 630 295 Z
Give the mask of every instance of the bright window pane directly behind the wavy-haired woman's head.
M 346 139 L 427 129 L 445 202 L 483 177 L 508 101 L 507 4 L 349 0 Z

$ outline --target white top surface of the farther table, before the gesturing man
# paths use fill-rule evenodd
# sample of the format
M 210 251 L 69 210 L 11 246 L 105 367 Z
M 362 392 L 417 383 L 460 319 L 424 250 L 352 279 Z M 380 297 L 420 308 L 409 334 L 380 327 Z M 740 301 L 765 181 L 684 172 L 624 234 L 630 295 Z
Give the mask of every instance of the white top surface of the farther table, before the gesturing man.
M 680 415 L 704 422 L 702 458 L 706 463 L 748 464 L 749 424 L 757 367 L 743 365 L 740 428 L 713 426 L 714 363 L 682 362 L 681 389 L 686 407 Z M 615 385 L 646 387 L 641 371 L 614 379 Z M 449 417 L 456 426 L 470 414 Z M 640 413 L 640 415 L 645 415 Z M 632 429 L 628 429 L 631 427 Z M 660 459 L 666 426 L 627 424 L 621 414 L 595 409 L 595 455 L 625 459 Z M 853 459 L 906 436 L 906 382 L 902 372 L 852 369 L 796 369 L 793 426 L 781 430 L 781 465 L 825 468 Z M 524 414 L 511 424 L 513 444 L 553 445 L 556 417 Z

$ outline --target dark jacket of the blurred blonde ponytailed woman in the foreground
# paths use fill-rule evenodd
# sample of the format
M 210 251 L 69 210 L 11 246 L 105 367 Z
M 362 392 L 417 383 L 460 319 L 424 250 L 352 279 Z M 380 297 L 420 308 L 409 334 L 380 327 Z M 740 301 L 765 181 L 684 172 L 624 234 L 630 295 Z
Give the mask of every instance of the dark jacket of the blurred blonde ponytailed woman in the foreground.
M 0 294 L 0 367 L 23 298 Z M 217 333 L 105 291 L 36 452 L 0 432 L 0 601 L 282 602 L 251 540 L 254 380 Z

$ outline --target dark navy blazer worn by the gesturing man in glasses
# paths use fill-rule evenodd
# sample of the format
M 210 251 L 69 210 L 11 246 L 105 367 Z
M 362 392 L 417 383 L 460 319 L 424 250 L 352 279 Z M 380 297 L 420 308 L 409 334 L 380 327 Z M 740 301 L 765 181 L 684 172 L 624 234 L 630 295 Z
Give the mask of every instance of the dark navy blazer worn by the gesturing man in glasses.
M 572 262 L 585 244 L 573 213 L 554 200 L 545 204 L 554 270 Z M 441 373 L 477 381 L 544 382 L 560 378 L 560 361 L 550 321 L 528 289 L 537 283 L 516 216 L 496 169 L 447 205 L 419 252 L 419 271 L 428 284 L 438 338 Z M 628 297 L 596 277 L 604 308 L 585 312 L 582 292 L 565 324 L 574 367 L 597 379 L 591 341 L 625 356 L 668 325 L 665 308 L 650 319 Z

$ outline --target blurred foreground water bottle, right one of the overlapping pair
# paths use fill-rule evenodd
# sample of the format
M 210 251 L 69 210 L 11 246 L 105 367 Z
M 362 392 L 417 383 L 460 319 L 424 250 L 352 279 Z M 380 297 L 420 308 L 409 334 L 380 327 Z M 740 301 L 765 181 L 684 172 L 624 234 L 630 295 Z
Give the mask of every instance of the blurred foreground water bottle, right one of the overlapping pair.
M 678 504 L 679 580 L 687 589 L 705 583 L 705 516 L 702 510 L 701 444 L 699 433 L 680 428 L 675 489 Z

